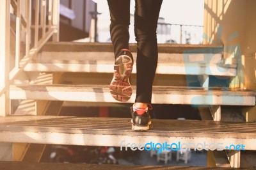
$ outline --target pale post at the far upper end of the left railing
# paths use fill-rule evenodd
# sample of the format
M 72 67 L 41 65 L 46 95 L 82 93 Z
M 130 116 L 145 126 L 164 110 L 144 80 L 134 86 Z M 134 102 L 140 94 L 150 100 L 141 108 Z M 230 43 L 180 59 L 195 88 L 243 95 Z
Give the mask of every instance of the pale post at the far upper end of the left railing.
M 52 26 L 56 27 L 52 41 L 58 42 L 60 36 L 60 0 L 52 1 Z

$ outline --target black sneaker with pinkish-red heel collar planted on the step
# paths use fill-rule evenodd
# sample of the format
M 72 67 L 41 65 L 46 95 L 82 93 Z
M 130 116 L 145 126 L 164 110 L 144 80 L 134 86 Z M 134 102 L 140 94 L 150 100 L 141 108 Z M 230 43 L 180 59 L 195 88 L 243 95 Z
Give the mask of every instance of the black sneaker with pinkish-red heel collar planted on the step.
M 152 106 L 148 104 L 147 108 L 138 108 L 135 105 L 131 107 L 132 114 L 132 130 L 148 130 L 151 125 L 150 114 L 148 109 L 152 110 Z

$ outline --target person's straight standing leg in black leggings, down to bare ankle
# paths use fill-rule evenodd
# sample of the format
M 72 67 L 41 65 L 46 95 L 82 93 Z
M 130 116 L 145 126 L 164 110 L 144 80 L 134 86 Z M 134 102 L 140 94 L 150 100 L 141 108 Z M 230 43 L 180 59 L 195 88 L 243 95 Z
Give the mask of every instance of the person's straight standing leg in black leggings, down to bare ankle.
M 157 20 L 163 0 L 136 0 L 134 31 L 138 44 L 136 104 L 151 104 L 152 85 L 156 73 Z

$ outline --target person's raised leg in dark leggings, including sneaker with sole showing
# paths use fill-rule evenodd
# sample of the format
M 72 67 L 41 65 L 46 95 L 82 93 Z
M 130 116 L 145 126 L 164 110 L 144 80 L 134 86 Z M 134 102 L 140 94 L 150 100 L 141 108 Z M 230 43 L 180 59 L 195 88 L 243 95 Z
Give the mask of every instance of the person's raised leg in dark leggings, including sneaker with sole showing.
M 115 50 L 114 76 L 110 93 L 115 100 L 125 102 L 132 95 L 129 77 L 133 58 L 129 50 L 130 0 L 108 0 L 111 17 L 110 35 Z

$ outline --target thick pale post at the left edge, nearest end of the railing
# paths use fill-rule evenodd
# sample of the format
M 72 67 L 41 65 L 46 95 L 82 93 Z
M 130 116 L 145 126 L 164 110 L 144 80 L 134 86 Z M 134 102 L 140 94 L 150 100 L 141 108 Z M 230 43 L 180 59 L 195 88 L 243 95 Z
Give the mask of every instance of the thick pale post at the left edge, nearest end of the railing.
M 10 112 L 10 0 L 0 1 L 0 20 L 0 116 L 6 116 Z

